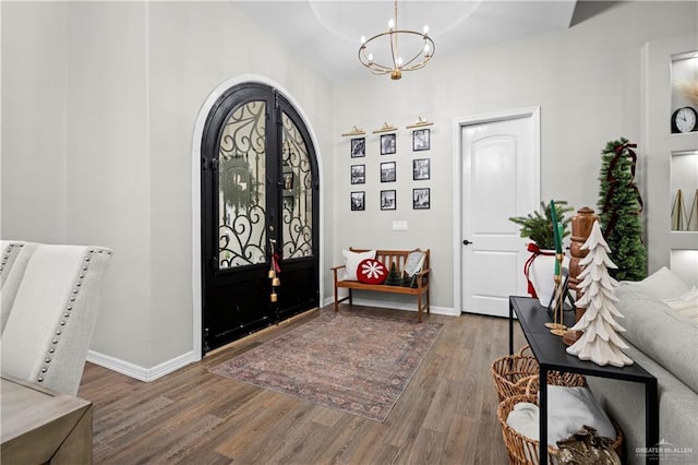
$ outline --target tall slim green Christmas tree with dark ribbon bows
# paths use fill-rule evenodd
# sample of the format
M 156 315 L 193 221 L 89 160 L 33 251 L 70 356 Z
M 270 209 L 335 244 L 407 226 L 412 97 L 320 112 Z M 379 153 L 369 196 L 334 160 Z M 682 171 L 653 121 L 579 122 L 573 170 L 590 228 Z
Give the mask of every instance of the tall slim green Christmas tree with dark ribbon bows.
M 642 243 L 642 198 L 635 183 L 637 144 L 627 139 L 611 141 L 601 153 L 601 188 L 598 206 L 603 237 L 617 265 L 611 275 L 618 281 L 647 277 L 647 249 Z

